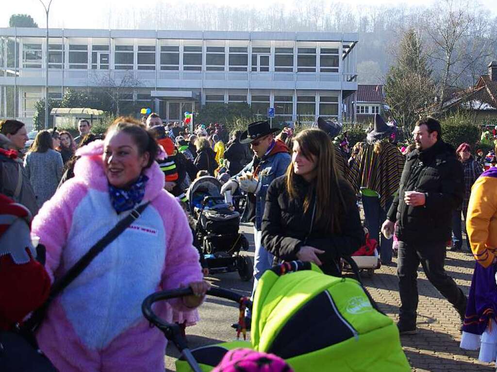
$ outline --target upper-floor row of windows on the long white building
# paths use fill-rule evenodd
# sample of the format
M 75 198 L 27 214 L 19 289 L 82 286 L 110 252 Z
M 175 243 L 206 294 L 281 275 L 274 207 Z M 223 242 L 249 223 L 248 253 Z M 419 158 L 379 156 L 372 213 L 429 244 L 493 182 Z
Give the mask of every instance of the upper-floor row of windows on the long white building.
M 62 69 L 65 51 L 61 44 L 49 44 L 49 68 Z M 91 47 L 91 68 L 93 70 L 109 69 L 109 46 L 93 45 Z M 114 47 L 114 68 L 116 70 L 133 70 L 133 45 L 116 45 Z M 248 66 L 248 47 L 229 47 L 228 71 L 250 71 Z M 181 64 L 182 58 L 182 64 Z M 252 47 L 250 69 L 252 72 L 268 72 L 271 48 Z M 297 72 L 316 72 L 319 60 L 319 72 L 338 72 L 338 49 L 297 48 Z M 202 71 L 202 46 L 161 46 L 160 69 L 184 71 Z M 24 44 L 22 51 L 24 68 L 42 67 L 41 44 Z M 156 69 L 156 47 L 140 45 L 137 51 L 138 70 Z M 69 45 L 69 68 L 86 69 L 88 66 L 88 46 Z M 274 71 L 294 71 L 294 48 L 274 48 Z M 206 71 L 225 71 L 225 47 L 208 46 L 205 54 Z

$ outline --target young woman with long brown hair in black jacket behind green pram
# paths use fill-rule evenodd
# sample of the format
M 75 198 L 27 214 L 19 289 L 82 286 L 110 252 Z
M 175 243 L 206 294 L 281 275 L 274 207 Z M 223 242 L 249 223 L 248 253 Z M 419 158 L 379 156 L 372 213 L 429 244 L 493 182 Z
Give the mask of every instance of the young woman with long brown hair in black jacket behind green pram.
M 341 255 L 364 244 L 355 193 L 335 172 L 328 135 L 306 129 L 293 138 L 292 163 L 267 190 L 264 247 L 281 260 L 314 262 L 339 276 Z

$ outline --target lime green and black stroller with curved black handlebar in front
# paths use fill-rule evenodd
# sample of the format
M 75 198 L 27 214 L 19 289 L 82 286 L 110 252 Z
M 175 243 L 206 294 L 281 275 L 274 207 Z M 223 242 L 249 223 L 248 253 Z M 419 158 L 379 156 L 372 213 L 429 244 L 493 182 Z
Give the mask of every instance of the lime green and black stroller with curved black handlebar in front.
M 357 266 L 352 260 L 350 264 L 358 276 Z M 377 308 L 360 281 L 325 275 L 314 264 L 287 262 L 266 271 L 258 282 L 253 306 L 230 290 L 207 292 L 252 309 L 250 342 L 189 350 L 179 327 L 158 318 L 152 305 L 191 293 L 190 288 L 157 292 L 142 304 L 145 317 L 181 352 L 178 372 L 211 371 L 228 351 L 237 348 L 275 354 L 295 372 L 411 371 L 397 326 Z M 243 318 L 242 313 L 242 322 Z

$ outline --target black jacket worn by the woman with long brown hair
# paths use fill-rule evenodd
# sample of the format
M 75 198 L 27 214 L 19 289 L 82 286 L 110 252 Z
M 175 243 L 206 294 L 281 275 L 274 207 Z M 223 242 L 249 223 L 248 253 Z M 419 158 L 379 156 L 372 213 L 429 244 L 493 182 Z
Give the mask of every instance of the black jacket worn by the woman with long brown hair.
M 316 220 L 312 223 L 313 208 L 304 212 L 304 198 L 312 192 L 311 186 L 300 177 L 297 180 L 298 199 L 290 199 L 285 176 L 269 186 L 262 218 L 262 245 L 285 261 L 296 260 L 297 252 L 304 245 L 321 249 L 325 251 L 318 256 L 323 263 L 321 269 L 325 274 L 339 275 L 340 256 L 349 256 L 364 245 L 364 230 L 354 190 L 347 181 L 340 179 L 338 185 L 345 200 L 345 213 L 340 216 L 341 233 L 332 234 Z

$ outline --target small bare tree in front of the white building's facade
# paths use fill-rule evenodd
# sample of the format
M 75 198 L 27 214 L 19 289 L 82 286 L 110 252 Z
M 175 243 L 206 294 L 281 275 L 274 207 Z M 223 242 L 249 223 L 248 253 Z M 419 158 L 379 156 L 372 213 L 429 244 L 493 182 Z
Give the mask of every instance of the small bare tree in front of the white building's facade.
M 111 100 L 115 107 L 115 112 L 119 116 L 121 113 L 121 100 L 125 94 L 133 94 L 133 90 L 141 86 L 141 82 L 134 77 L 133 71 L 108 71 L 94 72 L 90 81 L 98 87 L 98 93 L 103 93 Z M 117 76 L 116 76 L 117 75 Z

